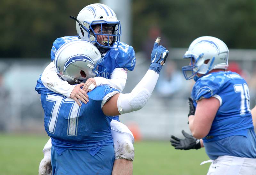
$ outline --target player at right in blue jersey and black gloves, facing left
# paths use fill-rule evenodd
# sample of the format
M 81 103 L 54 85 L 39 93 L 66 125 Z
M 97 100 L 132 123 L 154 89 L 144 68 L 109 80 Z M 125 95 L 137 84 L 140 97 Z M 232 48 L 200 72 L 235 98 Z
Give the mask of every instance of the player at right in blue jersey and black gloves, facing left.
M 194 40 L 183 58 L 182 71 L 196 81 L 189 98 L 189 129 L 185 139 L 171 136 L 176 149 L 205 147 L 212 164 L 208 174 L 256 174 L 256 137 L 250 110 L 249 88 L 228 68 L 228 47 L 218 38 Z M 201 141 L 199 140 L 201 139 Z

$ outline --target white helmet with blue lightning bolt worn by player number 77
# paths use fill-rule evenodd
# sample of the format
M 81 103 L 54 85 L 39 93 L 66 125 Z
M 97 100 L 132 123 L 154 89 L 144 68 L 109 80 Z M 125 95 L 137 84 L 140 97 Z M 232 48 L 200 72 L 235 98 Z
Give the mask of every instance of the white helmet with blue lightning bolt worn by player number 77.
M 61 79 L 69 84 L 78 84 L 98 76 L 97 67 L 103 60 L 100 51 L 92 43 L 73 40 L 59 48 L 54 63 Z

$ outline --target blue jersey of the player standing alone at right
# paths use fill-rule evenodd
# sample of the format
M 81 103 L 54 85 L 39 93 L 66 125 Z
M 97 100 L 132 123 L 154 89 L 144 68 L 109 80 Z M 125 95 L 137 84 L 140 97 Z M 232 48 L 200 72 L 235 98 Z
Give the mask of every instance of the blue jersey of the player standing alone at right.
M 195 106 L 202 98 L 215 97 L 220 101 L 204 143 L 234 135 L 246 137 L 248 129 L 253 129 L 249 88 L 237 73 L 221 71 L 205 75 L 196 81 L 191 96 Z

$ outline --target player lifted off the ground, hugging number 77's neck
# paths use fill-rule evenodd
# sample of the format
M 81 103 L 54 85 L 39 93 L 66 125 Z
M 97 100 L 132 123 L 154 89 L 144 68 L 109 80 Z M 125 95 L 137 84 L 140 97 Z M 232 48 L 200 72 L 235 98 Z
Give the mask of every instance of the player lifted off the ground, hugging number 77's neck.
M 62 44 L 78 39 L 86 40 L 94 44 L 105 57 L 104 61 L 99 63 L 100 76 L 88 79 L 85 84 L 71 85 L 59 78 L 52 62 L 42 74 L 42 83 L 48 89 L 74 99 L 79 105 L 81 105 L 79 100 L 83 103 L 88 102 L 86 92 L 101 84 L 108 84 L 122 92 L 127 79 L 127 70 L 134 69 L 136 59 L 132 46 L 120 42 L 121 25 L 115 12 L 107 5 L 91 4 L 84 7 L 77 18 L 71 18 L 76 20 L 77 36 L 57 38 L 52 46 L 51 60 L 54 60 Z M 113 174 L 122 174 L 123 171 L 131 174 L 134 158 L 132 132 L 116 116 L 111 122 L 111 133 L 116 154 Z M 44 146 L 43 152 L 44 159 L 39 165 L 39 174 L 45 174 L 51 169 L 47 166 L 51 164 L 51 139 Z

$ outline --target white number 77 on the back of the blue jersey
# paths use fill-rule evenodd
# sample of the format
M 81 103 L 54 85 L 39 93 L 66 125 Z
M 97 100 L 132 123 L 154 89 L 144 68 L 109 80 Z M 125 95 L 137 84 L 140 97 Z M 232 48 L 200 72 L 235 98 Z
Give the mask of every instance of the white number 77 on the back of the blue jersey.
M 72 106 L 68 115 L 68 136 L 76 136 L 77 135 L 77 125 L 78 125 L 78 116 L 80 112 L 80 106 L 73 99 L 69 99 L 63 96 L 57 96 L 52 94 L 47 94 L 46 101 L 54 102 L 51 112 L 51 118 L 48 123 L 48 131 L 50 133 L 55 132 L 56 123 L 60 111 L 60 107 L 62 103 L 72 103 Z

